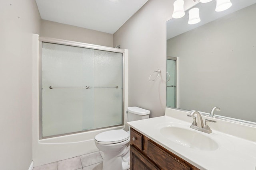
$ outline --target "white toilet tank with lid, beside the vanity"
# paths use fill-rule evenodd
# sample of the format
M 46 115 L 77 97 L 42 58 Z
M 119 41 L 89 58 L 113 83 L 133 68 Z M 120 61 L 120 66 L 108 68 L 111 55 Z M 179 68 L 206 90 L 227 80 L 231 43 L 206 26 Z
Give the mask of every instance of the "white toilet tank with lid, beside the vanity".
M 127 107 L 128 121 L 136 121 L 149 118 L 150 111 L 140 107 Z

